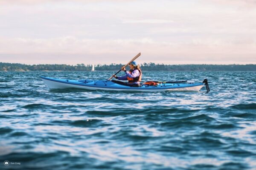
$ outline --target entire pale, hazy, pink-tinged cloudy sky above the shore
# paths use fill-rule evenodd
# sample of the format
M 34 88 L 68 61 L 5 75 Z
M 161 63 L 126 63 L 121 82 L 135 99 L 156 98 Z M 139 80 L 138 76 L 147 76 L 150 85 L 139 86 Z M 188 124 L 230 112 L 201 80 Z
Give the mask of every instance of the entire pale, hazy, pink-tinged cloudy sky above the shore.
M 0 0 L 0 62 L 256 64 L 256 0 Z

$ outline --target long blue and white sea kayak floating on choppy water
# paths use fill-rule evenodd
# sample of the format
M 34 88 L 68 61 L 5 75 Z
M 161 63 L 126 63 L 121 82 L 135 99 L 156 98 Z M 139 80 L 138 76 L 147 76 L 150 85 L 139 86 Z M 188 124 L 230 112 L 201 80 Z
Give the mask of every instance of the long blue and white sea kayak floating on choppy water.
M 199 91 L 204 82 L 200 83 L 158 83 L 158 85 L 141 85 L 140 87 L 131 87 L 121 85 L 110 80 L 70 80 L 56 79 L 51 77 L 41 77 L 46 85 L 51 89 L 58 88 L 82 88 L 88 90 L 111 90 L 111 91 Z

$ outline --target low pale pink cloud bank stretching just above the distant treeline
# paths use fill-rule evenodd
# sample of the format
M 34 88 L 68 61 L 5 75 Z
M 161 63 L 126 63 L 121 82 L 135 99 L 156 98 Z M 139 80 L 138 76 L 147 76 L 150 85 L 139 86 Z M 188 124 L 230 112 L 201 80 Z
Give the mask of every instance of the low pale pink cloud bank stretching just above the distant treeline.
M 2 62 L 11 58 L 12 62 L 23 63 L 108 64 L 121 63 L 125 60 L 124 56 L 133 56 L 138 52 L 143 54 L 138 62 L 256 63 L 256 44 L 247 39 L 224 41 L 208 38 L 186 42 L 163 42 L 148 37 L 112 40 L 79 39 L 72 36 L 53 39 L 0 39 Z

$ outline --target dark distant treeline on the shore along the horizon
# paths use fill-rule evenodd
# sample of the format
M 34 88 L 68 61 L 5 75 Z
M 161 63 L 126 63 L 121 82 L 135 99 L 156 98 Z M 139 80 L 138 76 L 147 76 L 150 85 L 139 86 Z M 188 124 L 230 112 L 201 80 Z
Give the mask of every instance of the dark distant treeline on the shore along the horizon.
M 95 65 L 96 71 L 117 71 L 122 64 Z M 155 63 L 143 63 L 140 65 L 143 71 L 256 71 L 256 64 L 246 65 L 212 65 L 212 64 L 186 64 L 165 65 Z M 66 64 L 38 64 L 26 65 L 19 63 L 0 62 L 0 71 L 91 71 L 92 65 L 66 65 Z M 128 68 L 127 68 L 128 69 Z

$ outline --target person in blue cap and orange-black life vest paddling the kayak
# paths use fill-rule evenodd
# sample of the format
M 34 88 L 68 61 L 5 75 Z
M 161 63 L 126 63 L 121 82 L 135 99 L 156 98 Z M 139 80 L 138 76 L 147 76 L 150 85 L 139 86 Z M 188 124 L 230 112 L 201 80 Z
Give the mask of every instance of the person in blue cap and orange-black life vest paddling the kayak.
M 130 71 L 125 70 L 125 68 L 122 68 L 122 71 L 125 72 L 125 76 L 117 77 L 113 76 L 116 79 L 119 80 L 128 80 L 127 85 L 131 86 L 140 86 L 142 72 L 140 70 L 140 65 L 137 65 L 137 62 L 133 61 L 129 64 Z

